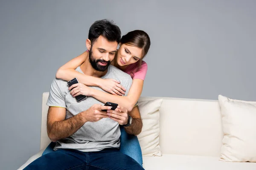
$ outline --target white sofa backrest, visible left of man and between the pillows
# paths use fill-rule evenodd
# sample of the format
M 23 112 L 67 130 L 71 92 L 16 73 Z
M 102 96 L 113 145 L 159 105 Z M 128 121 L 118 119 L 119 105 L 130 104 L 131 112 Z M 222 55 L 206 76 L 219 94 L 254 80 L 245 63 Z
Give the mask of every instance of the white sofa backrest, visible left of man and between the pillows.
M 51 142 L 47 135 L 46 105 L 49 92 L 43 94 L 41 144 Z M 219 156 L 223 139 L 220 106 L 217 100 L 140 97 L 139 101 L 163 99 L 160 108 L 160 148 L 162 153 Z

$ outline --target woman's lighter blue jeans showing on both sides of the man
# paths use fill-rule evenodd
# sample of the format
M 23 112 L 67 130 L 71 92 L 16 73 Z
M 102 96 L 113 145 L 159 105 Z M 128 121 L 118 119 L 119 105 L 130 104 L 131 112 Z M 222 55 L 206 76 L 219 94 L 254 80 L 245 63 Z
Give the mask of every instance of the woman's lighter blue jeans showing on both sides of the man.
M 137 136 L 126 133 L 125 128 L 123 126 L 119 126 L 119 127 L 121 130 L 120 152 L 130 156 L 142 166 L 143 164 L 142 152 L 141 152 L 140 143 Z M 55 142 L 51 142 L 48 145 L 48 147 L 44 150 L 44 153 L 42 154 L 42 156 L 47 153 L 53 152 L 54 147 L 55 147 Z

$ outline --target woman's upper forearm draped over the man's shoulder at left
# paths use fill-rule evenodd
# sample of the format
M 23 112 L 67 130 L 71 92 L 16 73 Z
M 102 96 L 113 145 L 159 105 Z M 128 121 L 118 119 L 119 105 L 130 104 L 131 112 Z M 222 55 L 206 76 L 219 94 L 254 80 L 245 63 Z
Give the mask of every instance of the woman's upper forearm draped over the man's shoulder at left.
M 98 77 L 88 76 L 85 74 L 81 74 L 78 71 L 74 70 L 73 68 L 69 69 L 59 69 L 56 73 L 57 79 L 63 79 L 69 81 L 73 78 L 77 78 L 79 82 L 83 83 L 87 86 L 101 86 L 101 80 Z

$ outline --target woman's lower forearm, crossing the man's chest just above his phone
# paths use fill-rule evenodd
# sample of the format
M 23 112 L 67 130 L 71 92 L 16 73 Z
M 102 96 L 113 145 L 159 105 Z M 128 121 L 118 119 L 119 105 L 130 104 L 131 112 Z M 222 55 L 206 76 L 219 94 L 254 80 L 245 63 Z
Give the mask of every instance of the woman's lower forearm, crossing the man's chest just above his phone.
M 112 102 L 117 103 L 118 105 L 121 105 L 125 107 L 128 111 L 131 111 L 136 104 L 137 101 L 132 100 L 129 96 L 118 96 L 113 94 L 108 94 L 103 91 L 96 90 L 94 88 L 91 88 L 91 95 L 93 98 L 96 98 L 97 100 L 106 103 L 106 102 Z

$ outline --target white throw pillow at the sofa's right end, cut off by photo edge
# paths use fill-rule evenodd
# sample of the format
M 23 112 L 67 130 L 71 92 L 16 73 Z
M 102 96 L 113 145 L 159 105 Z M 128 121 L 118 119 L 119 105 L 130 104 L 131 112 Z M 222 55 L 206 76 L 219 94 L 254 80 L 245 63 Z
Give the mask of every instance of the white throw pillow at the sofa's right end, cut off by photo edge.
M 218 96 L 224 138 L 221 161 L 256 162 L 256 102 Z

